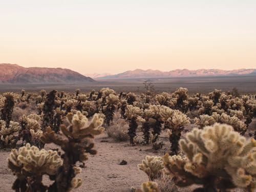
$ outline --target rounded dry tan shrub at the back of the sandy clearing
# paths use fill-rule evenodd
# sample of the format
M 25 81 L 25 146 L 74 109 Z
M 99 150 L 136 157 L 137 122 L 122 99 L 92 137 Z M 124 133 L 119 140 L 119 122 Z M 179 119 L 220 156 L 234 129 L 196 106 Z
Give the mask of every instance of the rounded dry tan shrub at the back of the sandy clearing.
M 127 141 L 129 139 L 128 128 L 128 124 L 121 118 L 121 115 L 115 114 L 111 125 L 106 127 L 106 133 L 116 141 Z

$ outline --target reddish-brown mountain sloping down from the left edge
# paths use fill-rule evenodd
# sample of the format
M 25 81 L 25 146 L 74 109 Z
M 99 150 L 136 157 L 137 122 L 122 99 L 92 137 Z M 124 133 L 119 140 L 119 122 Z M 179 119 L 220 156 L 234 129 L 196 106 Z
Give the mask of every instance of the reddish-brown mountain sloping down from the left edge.
M 0 82 L 5 83 L 72 83 L 95 82 L 90 77 L 62 68 L 25 68 L 15 64 L 0 64 Z

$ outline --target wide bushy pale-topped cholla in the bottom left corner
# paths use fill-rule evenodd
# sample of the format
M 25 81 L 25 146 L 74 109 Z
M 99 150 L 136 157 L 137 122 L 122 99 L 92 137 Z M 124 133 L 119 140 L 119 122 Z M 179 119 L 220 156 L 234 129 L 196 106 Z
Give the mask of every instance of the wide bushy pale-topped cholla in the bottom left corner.
M 13 149 L 8 158 L 8 166 L 17 176 L 13 184 L 16 191 L 46 191 L 47 186 L 42 184 L 42 176 L 55 176 L 62 165 L 62 159 L 56 151 L 39 150 L 29 143 Z M 50 177 L 51 178 L 51 177 Z

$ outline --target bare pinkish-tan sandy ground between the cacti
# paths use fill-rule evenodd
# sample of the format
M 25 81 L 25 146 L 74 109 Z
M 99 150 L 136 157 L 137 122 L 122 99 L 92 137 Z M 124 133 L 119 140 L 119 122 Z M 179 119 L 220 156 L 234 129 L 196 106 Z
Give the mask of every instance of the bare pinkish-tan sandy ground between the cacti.
M 248 132 L 253 132 L 255 127 L 256 119 L 250 124 Z M 190 129 L 191 125 L 187 128 Z M 131 186 L 139 187 L 148 178 L 145 173 L 138 170 L 137 164 L 141 163 L 141 160 L 146 155 L 163 155 L 169 149 L 166 134 L 162 134 L 160 140 L 164 141 L 165 144 L 161 151 L 155 152 L 151 146 L 131 146 L 128 141 L 116 142 L 108 138 L 106 134 L 96 137 L 95 143 L 98 154 L 89 157 L 89 160 L 86 162 L 87 167 L 83 168 L 82 173 L 79 175 L 83 184 L 74 191 L 125 192 L 130 191 Z M 54 148 L 52 144 L 46 145 L 46 149 L 52 147 Z M 1 192 L 12 191 L 11 186 L 15 180 L 15 176 L 7 168 L 9 153 L 10 151 L 0 151 Z M 127 165 L 119 165 L 122 160 L 127 161 Z M 191 188 L 182 188 L 179 191 L 191 190 Z

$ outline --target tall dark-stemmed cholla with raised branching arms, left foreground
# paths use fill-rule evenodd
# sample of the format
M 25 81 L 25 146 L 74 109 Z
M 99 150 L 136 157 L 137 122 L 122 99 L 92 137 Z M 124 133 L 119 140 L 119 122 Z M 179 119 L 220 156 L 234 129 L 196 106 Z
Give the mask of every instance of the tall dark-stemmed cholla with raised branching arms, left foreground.
M 68 127 L 60 126 L 60 130 L 66 139 L 57 135 L 50 127 L 41 137 L 43 142 L 55 143 L 61 146 L 61 149 L 65 152 L 62 155 L 63 165 L 58 169 L 55 182 L 50 186 L 51 192 L 70 191 L 72 188 L 81 185 L 81 180 L 75 177 L 77 169 L 74 165 L 77 161 L 86 161 L 88 159 L 87 153 L 96 154 L 91 139 L 104 131 L 101 126 L 103 118 L 98 114 L 95 114 L 93 119 L 88 122 L 87 117 L 78 111 L 75 115 L 69 113 L 67 120 L 70 123 Z

